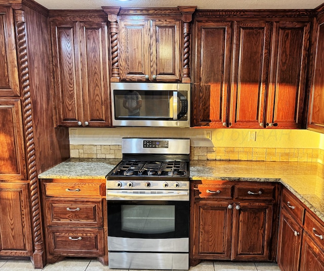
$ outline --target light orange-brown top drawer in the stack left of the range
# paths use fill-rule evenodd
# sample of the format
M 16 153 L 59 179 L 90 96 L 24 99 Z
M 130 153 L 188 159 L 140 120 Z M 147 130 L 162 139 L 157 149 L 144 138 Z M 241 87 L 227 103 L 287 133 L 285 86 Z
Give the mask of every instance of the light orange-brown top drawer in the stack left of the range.
M 52 183 L 45 182 L 45 194 L 49 197 L 92 197 L 99 198 L 102 194 L 100 183 Z

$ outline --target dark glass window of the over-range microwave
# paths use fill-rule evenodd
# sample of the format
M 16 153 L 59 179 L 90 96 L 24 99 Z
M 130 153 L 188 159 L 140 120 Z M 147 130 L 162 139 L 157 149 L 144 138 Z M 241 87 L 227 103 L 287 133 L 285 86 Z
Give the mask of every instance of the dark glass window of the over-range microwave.
M 115 119 L 172 119 L 173 91 L 114 90 Z

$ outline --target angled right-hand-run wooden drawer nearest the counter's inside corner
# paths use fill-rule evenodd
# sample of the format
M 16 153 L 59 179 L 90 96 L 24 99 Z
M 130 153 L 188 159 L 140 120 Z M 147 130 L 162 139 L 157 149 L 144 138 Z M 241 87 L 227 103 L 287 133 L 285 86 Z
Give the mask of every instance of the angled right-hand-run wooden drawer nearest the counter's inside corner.
M 303 225 L 305 208 L 302 206 L 300 200 L 286 188 L 282 191 L 281 206 L 285 208 L 300 225 Z

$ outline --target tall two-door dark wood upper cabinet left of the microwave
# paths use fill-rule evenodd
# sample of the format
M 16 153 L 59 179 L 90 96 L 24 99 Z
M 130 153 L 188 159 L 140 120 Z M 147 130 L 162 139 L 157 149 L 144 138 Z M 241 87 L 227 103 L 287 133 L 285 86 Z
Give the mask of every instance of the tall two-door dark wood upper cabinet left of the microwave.
M 57 125 L 110 126 L 106 22 L 51 22 Z

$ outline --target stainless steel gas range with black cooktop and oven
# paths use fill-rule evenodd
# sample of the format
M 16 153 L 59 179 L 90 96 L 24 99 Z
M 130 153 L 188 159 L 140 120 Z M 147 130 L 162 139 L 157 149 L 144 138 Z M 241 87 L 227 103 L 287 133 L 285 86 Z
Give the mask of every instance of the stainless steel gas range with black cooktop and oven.
M 107 174 L 110 268 L 189 268 L 190 140 L 123 138 Z

